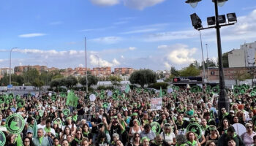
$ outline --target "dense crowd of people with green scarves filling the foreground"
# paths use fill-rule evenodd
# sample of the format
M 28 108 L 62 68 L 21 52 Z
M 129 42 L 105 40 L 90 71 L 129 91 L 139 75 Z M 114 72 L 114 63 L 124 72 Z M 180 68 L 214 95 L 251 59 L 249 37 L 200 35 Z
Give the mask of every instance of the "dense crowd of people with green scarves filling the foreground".
M 55 100 L 48 93 L 24 96 L 23 107 L 17 107 L 15 98 L 1 104 L 0 130 L 6 146 L 20 146 L 18 137 L 24 146 L 252 146 L 256 145 L 256 104 L 250 90 L 238 95 L 227 91 L 230 109 L 217 108 L 217 93 L 189 88 L 161 95 L 161 110 L 151 109 L 151 99 L 162 91 L 130 90 L 117 98 L 104 91 L 104 98 L 95 100 L 75 91 L 76 107 L 67 106 L 60 93 Z M 20 134 L 10 134 L 5 126 L 12 114 L 22 115 L 26 123 Z M 199 126 L 200 133 L 187 129 L 191 123 Z M 238 135 L 236 123 L 246 128 L 243 134 Z

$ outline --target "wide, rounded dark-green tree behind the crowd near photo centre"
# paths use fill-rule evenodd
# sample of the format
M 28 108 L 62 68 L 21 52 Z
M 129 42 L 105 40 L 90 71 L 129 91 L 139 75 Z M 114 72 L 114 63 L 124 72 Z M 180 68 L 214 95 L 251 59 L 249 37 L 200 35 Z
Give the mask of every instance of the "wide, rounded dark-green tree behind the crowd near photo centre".
M 129 82 L 139 84 L 144 88 L 146 84 L 157 82 L 157 74 L 150 69 L 140 69 L 131 74 Z

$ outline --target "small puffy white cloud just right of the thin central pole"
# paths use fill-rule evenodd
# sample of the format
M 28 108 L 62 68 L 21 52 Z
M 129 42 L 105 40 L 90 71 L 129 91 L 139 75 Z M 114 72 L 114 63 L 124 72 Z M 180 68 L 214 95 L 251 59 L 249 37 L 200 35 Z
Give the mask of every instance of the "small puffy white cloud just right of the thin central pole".
M 110 67 L 113 67 L 113 66 L 118 66 L 120 65 L 120 63 L 116 60 L 116 58 L 113 59 L 112 62 L 109 62 L 109 61 L 106 61 L 106 60 L 103 60 L 102 58 L 97 58 L 96 55 L 90 55 L 90 63 L 94 66 L 110 66 Z

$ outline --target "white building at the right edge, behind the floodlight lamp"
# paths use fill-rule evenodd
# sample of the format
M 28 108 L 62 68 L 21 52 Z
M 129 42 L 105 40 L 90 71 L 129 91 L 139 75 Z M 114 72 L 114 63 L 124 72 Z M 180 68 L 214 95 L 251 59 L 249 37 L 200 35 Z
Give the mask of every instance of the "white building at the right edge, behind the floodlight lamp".
M 229 67 L 247 67 L 256 66 L 256 41 L 244 43 L 238 50 L 232 50 L 228 53 Z

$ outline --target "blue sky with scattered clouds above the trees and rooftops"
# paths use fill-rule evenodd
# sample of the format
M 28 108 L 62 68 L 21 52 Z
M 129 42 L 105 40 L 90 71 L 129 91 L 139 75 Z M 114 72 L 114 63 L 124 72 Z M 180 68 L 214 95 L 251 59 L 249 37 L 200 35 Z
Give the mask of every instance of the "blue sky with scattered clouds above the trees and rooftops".
M 214 3 L 192 8 L 185 0 L 9 0 L 0 1 L 0 68 L 132 67 L 182 69 L 202 61 L 200 34 L 190 15 L 207 27 Z M 238 23 L 220 29 L 222 53 L 256 41 L 256 1 L 229 0 L 219 15 L 236 12 Z M 217 60 L 214 28 L 201 31 L 203 55 Z M 86 47 L 85 47 L 86 46 Z M 86 48 L 86 53 L 85 53 Z

